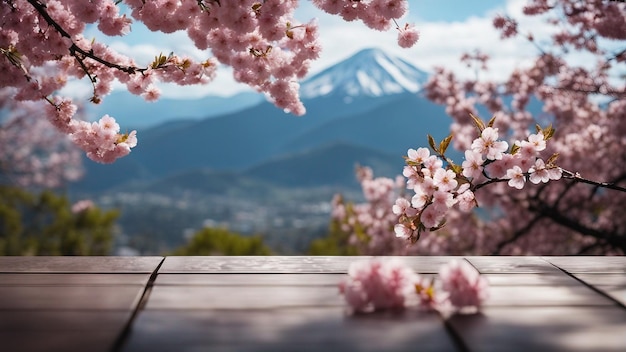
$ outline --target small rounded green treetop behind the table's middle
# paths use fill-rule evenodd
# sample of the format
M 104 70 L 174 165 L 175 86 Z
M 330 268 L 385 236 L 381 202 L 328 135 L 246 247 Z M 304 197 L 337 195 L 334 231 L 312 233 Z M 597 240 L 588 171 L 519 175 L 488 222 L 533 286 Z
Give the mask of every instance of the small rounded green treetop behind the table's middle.
M 174 255 L 269 255 L 261 236 L 245 237 L 223 228 L 203 228 Z

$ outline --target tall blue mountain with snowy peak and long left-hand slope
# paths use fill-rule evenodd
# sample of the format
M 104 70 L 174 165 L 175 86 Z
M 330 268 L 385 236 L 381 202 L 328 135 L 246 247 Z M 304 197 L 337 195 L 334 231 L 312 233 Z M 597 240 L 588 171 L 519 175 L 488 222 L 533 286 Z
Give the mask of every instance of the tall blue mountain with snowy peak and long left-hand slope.
M 368 72 L 370 79 L 364 78 Z M 374 78 L 380 79 L 380 89 Z M 87 162 L 88 176 L 77 187 L 93 189 L 97 184 L 98 189 L 111 189 L 197 169 L 239 173 L 336 143 L 400 158 L 409 147 L 424 144 L 426 131 L 447 134 L 449 119 L 443 108 L 413 92 L 426 78 L 405 61 L 380 50 L 364 50 L 303 82 L 305 93 L 314 92 L 320 82 L 332 82 L 323 95 L 303 93 L 303 117 L 262 102 L 198 121 L 139 129 L 139 144 L 129 156 L 112 165 Z M 327 154 L 327 161 L 332 163 L 333 157 Z M 344 161 L 354 167 L 354 160 Z

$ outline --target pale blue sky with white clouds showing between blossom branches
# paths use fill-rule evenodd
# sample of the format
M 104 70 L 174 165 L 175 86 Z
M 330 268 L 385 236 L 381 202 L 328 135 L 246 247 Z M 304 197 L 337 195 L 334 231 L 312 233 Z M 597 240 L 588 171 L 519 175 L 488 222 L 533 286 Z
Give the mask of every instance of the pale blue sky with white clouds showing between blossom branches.
M 514 67 L 523 64 L 526 57 L 535 51 L 525 44 L 515 41 L 499 42 L 499 35 L 491 26 L 496 13 L 517 15 L 521 13 L 524 0 L 410 0 L 409 15 L 399 21 L 414 23 L 421 33 L 420 41 L 410 49 L 402 49 L 396 43 L 397 32 L 377 32 L 366 28 L 362 23 L 346 23 L 337 16 L 331 16 L 316 9 L 308 0 L 301 0 L 296 18 L 308 21 L 317 18 L 320 25 L 322 55 L 311 66 L 311 74 L 337 63 L 355 52 L 378 47 L 392 55 L 400 56 L 415 66 L 430 71 L 435 65 L 443 65 L 460 76 L 473 74 L 459 63 L 459 57 L 468 51 L 480 48 L 492 55 L 492 75 L 504 77 Z M 95 33 L 89 33 L 95 35 Z M 100 40 L 100 39 L 99 39 Z M 136 58 L 140 65 L 148 64 L 155 55 L 171 51 L 190 55 L 198 60 L 210 56 L 206 51 L 196 49 L 184 33 L 173 35 L 154 34 L 140 24 L 134 24 L 132 32 L 122 38 L 106 38 L 114 49 Z M 527 54 L 524 54 L 526 52 Z M 83 84 L 83 82 L 81 82 Z M 78 85 L 72 90 L 78 91 Z M 228 68 L 218 71 L 217 79 L 202 87 L 160 86 L 163 96 L 170 98 L 193 99 L 205 95 L 232 95 L 247 87 L 237 84 Z

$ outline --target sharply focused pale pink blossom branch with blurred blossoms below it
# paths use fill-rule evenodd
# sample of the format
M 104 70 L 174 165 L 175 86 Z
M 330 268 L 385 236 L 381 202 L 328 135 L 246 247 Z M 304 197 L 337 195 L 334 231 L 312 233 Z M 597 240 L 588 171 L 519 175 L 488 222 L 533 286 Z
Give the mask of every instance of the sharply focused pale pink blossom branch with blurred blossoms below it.
M 351 236 L 351 243 L 357 245 L 363 254 L 381 253 L 372 252 L 374 248 L 392 251 L 387 252 L 388 254 L 422 252 L 450 254 L 446 251 L 463 250 L 463 246 L 469 243 L 453 242 L 443 246 L 442 241 L 445 242 L 445 236 L 438 238 L 436 233 L 450 231 L 461 234 L 462 229 L 471 228 L 474 222 L 464 222 L 463 216 L 467 215 L 460 215 L 456 211 L 467 214 L 481 204 L 488 207 L 494 206 L 495 203 L 492 203 L 490 198 L 482 196 L 483 189 L 494 189 L 500 194 L 507 194 L 506 190 L 498 187 L 499 184 L 505 182 L 509 187 L 521 191 L 525 187 L 526 180 L 531 180 L 532 184 L 538 184 L 560 180 L 564 174 L 568 177 L 575 176 L 557 166 L 558 154 L 552 154 L 547 162 L 541 158 L 542 153 L 549 151 L 547 141 L 555 134 L 551 126 L 546 128 L 536 126 L 537 133 L 528 134 L 525 140 L 515 141 L 511 150 L 498 150 L 498 153 L 502 154 L 499 159 L 483 160 L 483 153 L 489 154 L 489 148 L 494 148 L 493 146 L 501 142 L 498 130 L 491 127 L 497 123 L 497 119 L 491 119 L 488 124 L 476 117 L 473 117 L 473 120 L 480 133 L 470 143 L 472 149 L 465 151 L 469 160 L 464 162 L 464 167 L 455 164 L 453 160 L 445 156 L 445 150 L 452 142 L 452 136 L 445 138 L 439 144 L 435 143 L 432 137 L 428 138 L 434 155 L 430 155 L 430 151 L 424 148 L 411 148 L 407 151 L 407 156 L 405 156 L 407 165 L 403 169 L 403 174 L 406 177 L 405 188 L 414 192 L 412 196 L 409 195 L 410 198 L 396 189 L 398 180 L 394 182 L 387 178 L 374 178 L 371 169 L 359 169 L 357 175 L 368 203 L 346 205 L 343 200 L 334 202 L 333 216 L 335 221 L 343 224 L 341 228 L 345 232 L 354 232 Z M 472 168 L 473 170 L 468 172 Z M 601 187 L 612 187 L 580 177 L 576 180 Z M 617 186 L 615 189 L 626 192 L 626 189 Z M 381 200 L 384 201 L 381 202 Z M 351 211 L 346 211 L 346 209 Z M 383 214 L 385 215 L 382 216 Z M 454 224 L 452 229 L 450 229 L 451 223 Z M 471 240 L 473 236 L 477 235 L 470 234 L 468 239 Z M 502 239 L 501 237 L 485 238 L 478 244 L 487 244 L 493 240 Z M 401 247 L 394 244 L 394 241 L 406 241 L 412 245 Z M 473 245 L 477 244 L 476 240 L 472 241 Z M 371 243 L 377 245 L 372 246 Z M 381 246 L 383 243 L 384 246 Z

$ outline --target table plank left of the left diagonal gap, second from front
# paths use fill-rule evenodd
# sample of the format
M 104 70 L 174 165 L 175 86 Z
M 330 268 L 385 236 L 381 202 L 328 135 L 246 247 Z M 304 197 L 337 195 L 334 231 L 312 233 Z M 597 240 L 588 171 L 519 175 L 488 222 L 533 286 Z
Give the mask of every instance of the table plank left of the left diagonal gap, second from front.
M 141 286 L 0 286 L 0 310 L 132 310 Z

